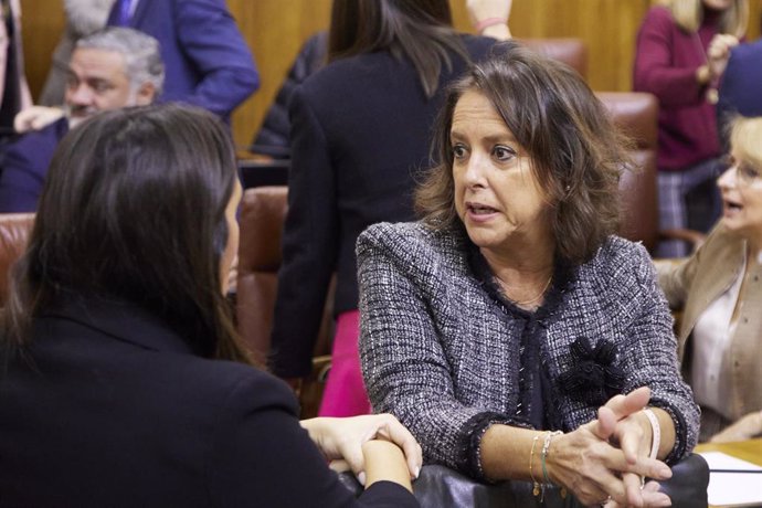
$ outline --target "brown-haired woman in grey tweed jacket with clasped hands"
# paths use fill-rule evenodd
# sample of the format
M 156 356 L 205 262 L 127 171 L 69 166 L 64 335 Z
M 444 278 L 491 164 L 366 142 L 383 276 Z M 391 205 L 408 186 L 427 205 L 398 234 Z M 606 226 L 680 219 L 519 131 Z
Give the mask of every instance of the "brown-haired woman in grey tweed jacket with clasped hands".
M 613 235 L 624 140 L 604 107 L 507 43 L 451 88 L 434 142 L 423 221 L 358 241 L 374 410 L 473 477 L 665 506 L 638 475 L 669 477 L 699 415 L 649 256 Z

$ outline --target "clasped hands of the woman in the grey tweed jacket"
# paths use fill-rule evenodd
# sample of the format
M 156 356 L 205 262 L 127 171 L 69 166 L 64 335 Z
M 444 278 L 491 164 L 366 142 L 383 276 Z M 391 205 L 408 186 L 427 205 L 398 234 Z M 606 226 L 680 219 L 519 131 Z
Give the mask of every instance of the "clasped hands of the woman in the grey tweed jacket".
M 670 506 L 658 484 L 643 486 L 643 477 L 667 479 L 669 467 L 649 458 L 650 423 L 642 413 L 648 388 L 616 395 L 599 409 L 597 420 L 552 441 L 550 476 L 584 505 Z

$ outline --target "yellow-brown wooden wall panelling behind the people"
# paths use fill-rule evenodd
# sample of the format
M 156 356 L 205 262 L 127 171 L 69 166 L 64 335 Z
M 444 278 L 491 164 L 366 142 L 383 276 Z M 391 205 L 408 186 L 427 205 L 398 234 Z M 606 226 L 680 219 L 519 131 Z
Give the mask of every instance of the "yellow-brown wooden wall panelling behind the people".
M 148 0 L 146 0 L 148 1 Z M 151 0 L 155 1 L 155 0 Z M 449 0 L 454 24 L 472 32 L 464 0 Z M 61 1 L 21 0 L 27 76 L 36 95 L 63 31 Z M 518 38 L 579 38 L 588 45 L 588 80 L 597 91 L 628 91 L 635 35 L 652 0 L 514 0 Z M 331 0 L 227 0 L 257 61 L 262 86 L 233 115 L 239 146 L 247 146 L 299 47 L 328 28 Z M 751 0 L 749 40 L 760 36 L 762 1 Z

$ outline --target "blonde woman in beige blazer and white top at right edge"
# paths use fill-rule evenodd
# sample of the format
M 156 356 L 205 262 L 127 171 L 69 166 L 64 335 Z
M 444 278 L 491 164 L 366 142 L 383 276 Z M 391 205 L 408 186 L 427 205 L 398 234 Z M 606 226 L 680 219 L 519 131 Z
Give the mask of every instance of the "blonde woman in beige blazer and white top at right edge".
M 718 180 L 722 218 L 689 258 L 659 262 L 686 380 L 701 406 L 701 441 L 762 434 L 762 117 L 735 120 Z

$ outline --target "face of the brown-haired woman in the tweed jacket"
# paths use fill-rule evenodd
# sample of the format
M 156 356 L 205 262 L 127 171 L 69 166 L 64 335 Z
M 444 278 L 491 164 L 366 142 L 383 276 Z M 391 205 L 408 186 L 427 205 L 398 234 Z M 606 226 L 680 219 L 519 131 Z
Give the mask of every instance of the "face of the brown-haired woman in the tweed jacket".
M 457 102 L 451 142 L 455 209 L 476 245 L 499 253 L 518 239 L 547 237 L 548 204 L 531 158 L 479 92 Z

